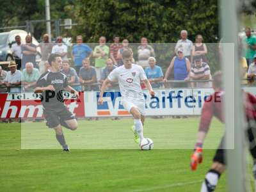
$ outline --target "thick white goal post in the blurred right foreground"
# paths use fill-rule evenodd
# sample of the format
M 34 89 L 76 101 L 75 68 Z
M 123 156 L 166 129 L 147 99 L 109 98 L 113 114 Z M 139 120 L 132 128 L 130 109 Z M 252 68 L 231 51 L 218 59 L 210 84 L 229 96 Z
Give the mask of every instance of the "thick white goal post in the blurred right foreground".
M 223 86 L 225 90 L 225 148 L 227 150 L 228 191 L 246 191 L 243 106 L 238 52 L 237 0 L 219 0 L 221 37 L 223 38 Z M 225 44 L 228 43 L 228 44 Z M 231 44 L 230 44 L 231 43 Z

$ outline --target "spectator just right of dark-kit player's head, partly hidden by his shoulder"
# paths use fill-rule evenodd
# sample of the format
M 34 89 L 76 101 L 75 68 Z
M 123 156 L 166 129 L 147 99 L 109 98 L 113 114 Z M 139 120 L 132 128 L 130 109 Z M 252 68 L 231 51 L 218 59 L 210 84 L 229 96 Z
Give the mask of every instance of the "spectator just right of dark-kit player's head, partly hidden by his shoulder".
M 67 76 L 68 84 L 74 88 L 77 92 L 81 92 L 82 87 L 79 85 L 79 78 L 77 76 L 76 70 L 70 67 L 68 60 L 62 61 L 62 70 L 63 74 Z M 77 85 L 72 85 L 77 84 Z

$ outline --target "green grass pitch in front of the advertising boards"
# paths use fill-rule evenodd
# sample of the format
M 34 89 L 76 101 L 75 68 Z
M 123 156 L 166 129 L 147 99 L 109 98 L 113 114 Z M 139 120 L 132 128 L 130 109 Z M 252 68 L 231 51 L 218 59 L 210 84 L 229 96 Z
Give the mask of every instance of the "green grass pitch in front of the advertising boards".
M 132 140 L 132 119 L 79 120 L 76 131 L 64 129 L 69 153 L 45 123 L 0 124 L 0 191 L 199 191 L 215 150 L 204 150 L 203 164 L 189 170 L 192 150 L 186 148 L 193 148 L 198 121 L 147 118 L 145 136 L 155 148 L 141 151 Z M 222 126 L 213 120 L 205 147 L 218 146 Z M 164 143 L 169 149 L 157 149 Z M 225 174 L 216 191 L 227 191 Z

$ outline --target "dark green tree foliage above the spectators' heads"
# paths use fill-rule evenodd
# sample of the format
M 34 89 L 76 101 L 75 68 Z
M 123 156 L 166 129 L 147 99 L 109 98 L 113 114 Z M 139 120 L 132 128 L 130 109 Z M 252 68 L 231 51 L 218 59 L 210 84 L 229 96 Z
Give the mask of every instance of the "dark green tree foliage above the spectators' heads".
M 150 42 L 177 42 L 182 29 L 191 40 L 198 33 L 206 42 L 216 42 L 218 36 L 217 0 L 82 0 L 69 10 L 81 25 L 72 34 L 82 34 L 88 42 L 102 35 L 108 40 L 119 35 L 130 42 L 139 42 L 141 36 Z

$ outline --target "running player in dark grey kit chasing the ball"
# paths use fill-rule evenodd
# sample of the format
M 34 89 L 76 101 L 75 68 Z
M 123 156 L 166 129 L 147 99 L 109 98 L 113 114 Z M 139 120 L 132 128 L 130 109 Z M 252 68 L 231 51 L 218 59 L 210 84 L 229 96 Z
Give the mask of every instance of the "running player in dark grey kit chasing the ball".
M 65 90 L 74 93 L 77 98 L 79 93 L 68 85 L 67 76 L 60 72 L 61 56 L 51 54 L 48 61 L 51 69 L 39 77 L 34 92 L 42 93 L 41 102 L 47 126 L 54 129 L 56 139 L 62 146 L 63 151 L 69 151 L 61 125 L 70 130 L 76 130 L 77 121 L 76 117 L 64 105 L 62 92 Z

